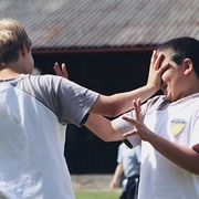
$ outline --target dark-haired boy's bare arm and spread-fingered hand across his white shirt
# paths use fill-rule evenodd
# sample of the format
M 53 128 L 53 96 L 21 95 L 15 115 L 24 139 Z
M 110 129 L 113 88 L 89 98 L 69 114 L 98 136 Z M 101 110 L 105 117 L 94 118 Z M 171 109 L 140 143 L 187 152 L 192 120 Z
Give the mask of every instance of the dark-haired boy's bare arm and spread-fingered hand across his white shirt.
M 188 148 L 155 134 L 140 121 L 140 100 L 134 101 L 134 107 L 135 119 L 123 116 L 126 122 L 134 126 L 134 130 L 124 134 L 124 136 L 138 134 L 143 140 L 150 143 L 156 150 L 170 161 L 190 172 L 199 175 L 199 145 Z

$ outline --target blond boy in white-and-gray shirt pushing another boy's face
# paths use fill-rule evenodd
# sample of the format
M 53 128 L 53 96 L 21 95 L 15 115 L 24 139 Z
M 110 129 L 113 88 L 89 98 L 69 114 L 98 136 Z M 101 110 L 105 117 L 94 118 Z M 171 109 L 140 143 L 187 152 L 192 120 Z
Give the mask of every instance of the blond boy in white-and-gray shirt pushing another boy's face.
M 61 76 L 31 75 L 31 50 L 22 24 L 0 19 L 0 198 L 74 199 L 64 157 L 67 124 L 85 125 L 105 142 L 123 140 L 121 132 L 96 130 L 96 122 L 157 92 L 160 56 L 154 54 L 145 86 L 105 96 Z

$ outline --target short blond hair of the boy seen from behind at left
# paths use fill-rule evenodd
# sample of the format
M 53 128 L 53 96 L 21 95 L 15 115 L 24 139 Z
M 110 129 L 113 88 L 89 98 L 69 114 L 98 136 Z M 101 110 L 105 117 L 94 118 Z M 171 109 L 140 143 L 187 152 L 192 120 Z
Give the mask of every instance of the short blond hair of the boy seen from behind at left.
M 22 45 L 30 51 L 32 42 L 24 28 L 13 19 L 0 20 L 0 65 L 18 61 Z

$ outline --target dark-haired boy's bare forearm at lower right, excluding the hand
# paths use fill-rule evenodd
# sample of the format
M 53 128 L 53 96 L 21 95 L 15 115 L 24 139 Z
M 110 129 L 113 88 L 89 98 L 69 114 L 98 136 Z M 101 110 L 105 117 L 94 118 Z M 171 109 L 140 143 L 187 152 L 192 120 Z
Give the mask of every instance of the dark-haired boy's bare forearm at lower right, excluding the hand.
M 199 153 L 192 148 L 171 143 L 154 133 L 148 134 L 147 142 L 174 164 L 190 172 L 199 175 Z

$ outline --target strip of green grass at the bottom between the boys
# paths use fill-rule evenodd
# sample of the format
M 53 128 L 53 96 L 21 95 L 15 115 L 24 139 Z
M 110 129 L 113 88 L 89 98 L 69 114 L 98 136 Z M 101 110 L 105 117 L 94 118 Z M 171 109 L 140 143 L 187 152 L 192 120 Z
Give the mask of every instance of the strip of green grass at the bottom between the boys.
M 118 191 L 76 190 L 76 199 L 118 199 Z

